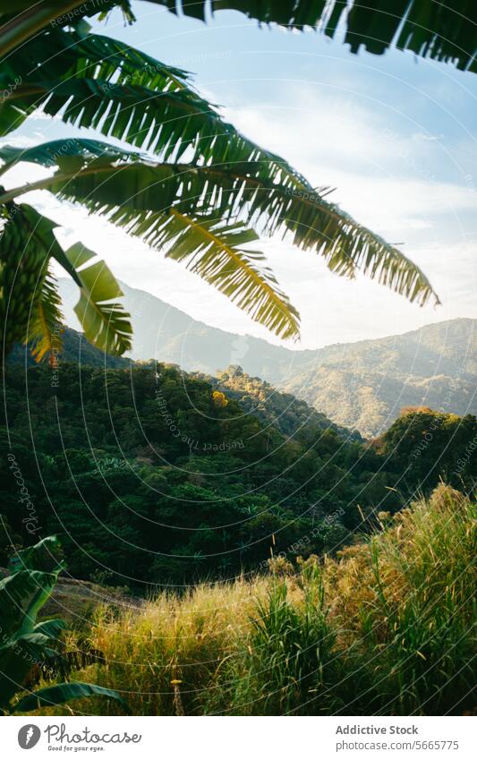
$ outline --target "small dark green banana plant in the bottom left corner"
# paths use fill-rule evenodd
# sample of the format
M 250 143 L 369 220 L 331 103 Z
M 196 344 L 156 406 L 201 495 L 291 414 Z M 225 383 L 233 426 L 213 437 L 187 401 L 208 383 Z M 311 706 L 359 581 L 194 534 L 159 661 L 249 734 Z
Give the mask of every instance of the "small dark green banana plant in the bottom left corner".
M 50 558 L 57 547 L 55 536 L 48 536 L 11 560 L 11 575 L 0 581 L 0 714 L 29 713 L 42 707 L 65 704 L 85 696 L 105 696 L 127 704 L 117 692 L 96 684 L 72 681 L 39 688 L 25 694 L 24 683 L 30 670 L 40 668 L 57 656 L 54 649 L 64 628 L 63 620 L 38 622 L 38 613 L 52 593 L 63 565 L 51 571 L 39 570 L 42 555 Z

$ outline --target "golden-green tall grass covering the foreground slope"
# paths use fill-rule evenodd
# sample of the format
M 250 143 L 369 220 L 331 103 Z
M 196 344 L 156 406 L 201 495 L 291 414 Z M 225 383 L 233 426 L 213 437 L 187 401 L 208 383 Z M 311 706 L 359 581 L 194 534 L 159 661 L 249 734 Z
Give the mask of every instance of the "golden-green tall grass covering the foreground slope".
M 104 660 L 81 678 L 136 714 L 473 710 L 475 517 L 442 485 L 337 559 L 104 608 L 90 632 Z

